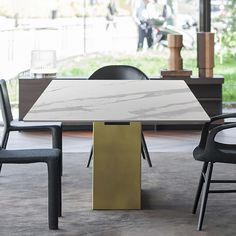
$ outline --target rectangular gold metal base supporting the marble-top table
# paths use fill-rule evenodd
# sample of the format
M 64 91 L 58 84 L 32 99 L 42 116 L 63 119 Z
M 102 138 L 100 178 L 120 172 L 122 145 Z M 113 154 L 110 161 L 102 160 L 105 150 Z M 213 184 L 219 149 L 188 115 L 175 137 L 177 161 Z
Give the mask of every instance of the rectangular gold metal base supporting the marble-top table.
M 93 142 L 93 209 L 140 209 L 140 122 L 94 122 Z

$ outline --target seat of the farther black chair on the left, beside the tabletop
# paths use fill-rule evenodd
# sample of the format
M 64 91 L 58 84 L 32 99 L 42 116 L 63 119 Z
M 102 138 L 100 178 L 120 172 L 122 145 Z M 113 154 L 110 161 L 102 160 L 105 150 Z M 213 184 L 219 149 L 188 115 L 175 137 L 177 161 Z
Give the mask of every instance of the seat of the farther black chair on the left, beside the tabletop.
M 61 127 L 61 122 L 25 122 L 25 121 L 18 121 L 13 120 L 10 123 L 11 128 L 20 128 L 21 130 L 25 129 L 45 129 L 45 128 L 52 128 L 52 127 Z

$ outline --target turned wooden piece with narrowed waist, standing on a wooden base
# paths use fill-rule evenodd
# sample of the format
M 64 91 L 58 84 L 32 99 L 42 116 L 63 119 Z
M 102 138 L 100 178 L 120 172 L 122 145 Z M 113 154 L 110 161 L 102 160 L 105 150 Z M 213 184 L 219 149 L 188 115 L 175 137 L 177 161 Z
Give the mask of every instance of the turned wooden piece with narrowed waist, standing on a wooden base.
M 169 70 L 183 70 L 183 60 L 180 55 L 183 47 L 183 36 L 181 34 L 168 34 L 168 48 L 170 49 Z

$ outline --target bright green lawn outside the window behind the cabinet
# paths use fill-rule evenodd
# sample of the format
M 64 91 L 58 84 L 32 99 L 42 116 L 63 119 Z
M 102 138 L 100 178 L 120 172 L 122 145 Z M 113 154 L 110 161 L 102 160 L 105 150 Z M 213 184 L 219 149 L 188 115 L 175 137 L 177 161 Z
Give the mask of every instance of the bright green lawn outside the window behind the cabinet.
M 193 76 L 197 76 L 198 70 L 196 65 L 196 53 L 194 51 L 183 51 L 182 57 L 184 60 L 184 68 L 191 69 Z M 140 68 L 149 77 L 159 77 L 160 70 L 167 68 L 168 52 L 150 51 L 146 53 L 136 53 L 133 55 L 120 55 L 112 57 L 111 55 L 90 55 L 86 57 L 75 58 L 68 67 L 68 63 L 59 67 L 59 75 L 88 77 L 96 69 L 109 64 L 127 64 Z M 220 59 L 215 58 L 215 75 L 222 75 L 225 78 L 223 85 L 223 100 L 224 102 L 236 101 L 236 57 L 226 56 L 223 64 L 220 64 Z

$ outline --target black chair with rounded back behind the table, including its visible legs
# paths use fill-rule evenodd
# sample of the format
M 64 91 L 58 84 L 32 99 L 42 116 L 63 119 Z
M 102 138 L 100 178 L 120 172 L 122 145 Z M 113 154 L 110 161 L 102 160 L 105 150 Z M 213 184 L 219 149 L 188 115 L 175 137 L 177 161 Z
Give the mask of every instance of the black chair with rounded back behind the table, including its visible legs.
M 109 65 L 96 70 L 88 79 L 93 80 L 149 80 L 149 78 L 138 68 L 128 65 Z M 152 167 L 152 162 L 148 153 L 147 144 L 142 132 L 141 152 L 148 165 Z M 90 151 L 87 167 L 89 167 L 93 156 L 93 146 Z

